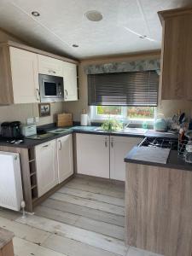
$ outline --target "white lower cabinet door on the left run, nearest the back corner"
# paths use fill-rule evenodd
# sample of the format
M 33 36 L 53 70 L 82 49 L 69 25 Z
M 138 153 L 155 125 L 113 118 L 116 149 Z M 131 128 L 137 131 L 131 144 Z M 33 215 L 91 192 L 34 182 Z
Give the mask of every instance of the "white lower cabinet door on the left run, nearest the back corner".
M 59 183 L 73 174 L 73 135 L 57 139 Z

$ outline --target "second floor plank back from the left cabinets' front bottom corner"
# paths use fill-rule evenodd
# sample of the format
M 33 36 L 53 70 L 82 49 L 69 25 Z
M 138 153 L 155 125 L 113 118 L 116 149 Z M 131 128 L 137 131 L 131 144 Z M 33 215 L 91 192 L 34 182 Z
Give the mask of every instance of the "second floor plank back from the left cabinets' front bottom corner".
M 109 224 L 115 224 L 121 227 L 125 226 L 125 218 L 120 215 L 115 215 L 113 213 L 102 212 L 96 209 L 90 209 L 89 207 L 81 207 L 64 201 L 56 201 L 53 199 L 47 199 L 42 203 L 44 207 L 50 207 L 62 212 L 70 212 L 74 214 L 79 214 L 86 218 L 91 218 L 95 220 L 102 220 Z

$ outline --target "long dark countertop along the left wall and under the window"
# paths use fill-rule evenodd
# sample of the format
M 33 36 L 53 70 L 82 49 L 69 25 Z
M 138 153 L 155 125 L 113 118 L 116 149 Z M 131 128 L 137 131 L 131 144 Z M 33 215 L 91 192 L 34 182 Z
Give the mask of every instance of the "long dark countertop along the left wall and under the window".
M 57 128 L 57 127 L 55 127 Z M 60 127 L 61 128 L 61 127 Z M 52 129 L 53 130 L 53 127 Z M 49 132 L 49 130 L 47 130 Z M 97 126 L 73 126 L 69 127 L 67 131 L 62 132 L 60 134 L 55 134 L 53 137 L 41 139 L 41 140 L 35 140 L 35 139 L 24 139 L 23 143 L 20 144 L 14 144 L 14 143 L 6 143 L 0 141 L 0 146 L 5 147 L 15 147 L 15 148 L 33 148 L 35 146 L 38 146 L 42 143 L 47 143 L 53 139 L 57 139 L 60 137 L 63 137 L 68 134 L 72 133 L 86 133 L 86 134 L 100 134 L 100 135 L 113 135 L 113 136 L 121 136 L 121 137 L 177 137 L 175 134 L 172 134 L 170 132 L 157 132 L 154 130 L 147 130 L 146 133 L 127 133 L 125 131 L 101 131 L 98 130 Z

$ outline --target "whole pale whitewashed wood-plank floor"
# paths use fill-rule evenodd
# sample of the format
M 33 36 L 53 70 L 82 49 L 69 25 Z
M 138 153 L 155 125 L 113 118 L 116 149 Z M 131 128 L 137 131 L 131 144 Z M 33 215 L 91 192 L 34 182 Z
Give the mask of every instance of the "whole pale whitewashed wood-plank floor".
M 0 208 L 0 227 L 15 233 L 16 256 L 154 256 L 125 247 L 125 187 L 75 177 L 34 215 Z

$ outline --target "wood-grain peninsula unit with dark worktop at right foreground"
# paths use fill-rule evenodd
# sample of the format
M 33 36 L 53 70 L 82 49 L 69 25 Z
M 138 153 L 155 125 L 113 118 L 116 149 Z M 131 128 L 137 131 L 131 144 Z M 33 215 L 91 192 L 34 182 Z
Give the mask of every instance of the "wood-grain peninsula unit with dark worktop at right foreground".
M 134 160 L 137 150 L 125 157 L 126 244 L 164 256 L 191 256 L 192 165 L 172 150 L 166 164 Z

